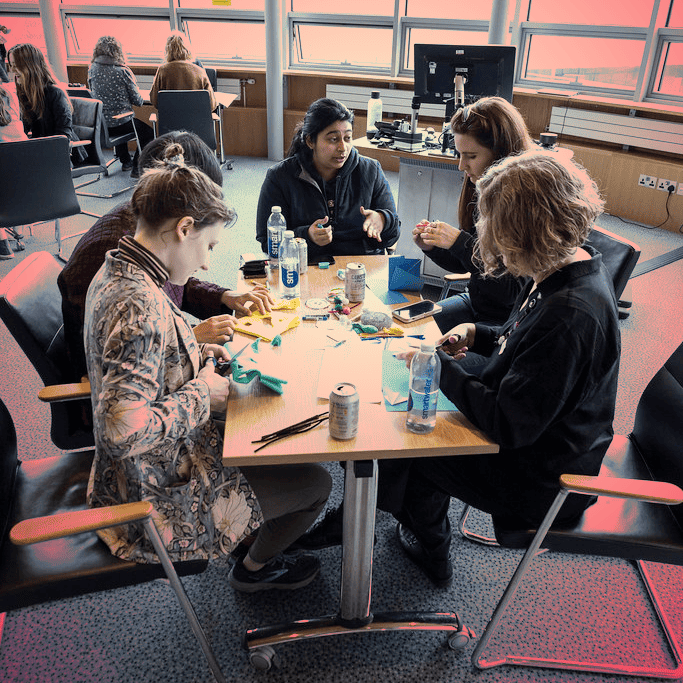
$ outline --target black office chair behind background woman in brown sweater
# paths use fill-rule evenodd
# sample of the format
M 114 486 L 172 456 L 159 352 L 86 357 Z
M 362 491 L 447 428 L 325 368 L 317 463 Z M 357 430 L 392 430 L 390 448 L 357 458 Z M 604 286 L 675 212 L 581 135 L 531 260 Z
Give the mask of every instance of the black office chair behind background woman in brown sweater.
M 196 133 L 211 149 L 217 149 L 216 124 L 219 124 L 218 157 L 223 159 L 223 126 L 218 114 L 211 111 L 211 96 L 208 90 L 160 90 L 157 112 L 150 121 L 154 135 L 159 136 L 174 130 Z

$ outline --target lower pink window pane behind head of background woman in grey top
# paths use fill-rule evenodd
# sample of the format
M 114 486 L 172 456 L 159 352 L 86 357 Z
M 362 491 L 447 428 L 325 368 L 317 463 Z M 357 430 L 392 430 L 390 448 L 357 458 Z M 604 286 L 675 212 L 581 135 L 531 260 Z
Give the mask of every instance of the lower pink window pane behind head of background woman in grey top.
M 70 55 L 90 56 L 101 36 L 116 36 L 121 41 L 125 55 L 144 55 L 162 59 L 166 38 L 171 31 L 168 19 L 164 18 L 72 15 L 67 25 L 67 49 Z

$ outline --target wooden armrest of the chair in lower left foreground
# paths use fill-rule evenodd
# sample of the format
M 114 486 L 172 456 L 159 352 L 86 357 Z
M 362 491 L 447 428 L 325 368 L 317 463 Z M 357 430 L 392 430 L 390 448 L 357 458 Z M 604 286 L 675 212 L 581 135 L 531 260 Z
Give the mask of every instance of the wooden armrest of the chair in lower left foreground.
M 48 517 L 34 517 L 15 524 L 10 539 L 15 545 L 31 545 L 55 538 L 73 536 L 85 531 L 97 531 L 110 526 L 145 520 L 152 514 L 149 501 L 124 503 L 103 508 L 89 508 L 75 512 L 62 512 Z

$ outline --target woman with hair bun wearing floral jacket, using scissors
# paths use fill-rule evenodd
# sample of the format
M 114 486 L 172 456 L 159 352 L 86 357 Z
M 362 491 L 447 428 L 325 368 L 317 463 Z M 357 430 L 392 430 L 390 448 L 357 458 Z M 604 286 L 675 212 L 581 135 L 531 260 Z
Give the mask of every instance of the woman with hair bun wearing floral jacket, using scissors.
M 86 301 L 85 346 L 92 383 L 95 459 L 92 507 L 148 500 L 174 561 L 225 558 L 259 529 L 230 582 L 254 592 L 305 586 L 315 555 L 283 553 L 315 520 L 331 480 L 320 465 L 222 464 L 211 413 L 226 408 L 230 380 L 215 372 L 222 346 L 197 344 L 163 286 L 206 269 L 231 211 L 221 188 L 185 166 L 182 147 L 146 171 L 132 197 L 135 235 L 110 251 Z M 114 555 L 157 562 L 140 529 L 100 532 Z

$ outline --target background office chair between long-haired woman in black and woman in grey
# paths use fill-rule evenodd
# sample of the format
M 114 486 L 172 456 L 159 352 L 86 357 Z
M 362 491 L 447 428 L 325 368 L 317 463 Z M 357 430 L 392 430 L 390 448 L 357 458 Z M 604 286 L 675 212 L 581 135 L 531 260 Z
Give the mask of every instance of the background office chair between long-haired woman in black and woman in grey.
M 76 186 L 76 190 L 78 190 L 81 187 L 85 187 L 86 185 L 90 185 L 92 183 L 96 183 L 98 180 L 101 179 L 101 174 L 103 173 L 105 176 L 109 176 L 109 167 L 116 161 L 116 157 L 112 157 L 111 159 L 107 160 L 104 156 L 103 149 L 112 149 L 116 147 L 117 145 L 121 145 L 124 143 L 131 142 L 132 140 L 135 140 L 138 149 L 141 149 L 140 147 L 140 140 L 138 139 L 138 133 L 135 128 L 135 117 L 134 117 L 134 112 L 132 111 L 127 111 L 123 112 L 121 114 L 117 114 L 114 118 L 115 119 L 125 119 L 129 116 L 133 116 L 132 119 L 132 125 L 133 125 L 133 130 L 128 132 L 128 133 L 121 133 L 120 135 L 115 135 L 114 137 L 109 135 L 109 128 L 106 126 L 104 122 L 104 112 L 103 112 L 103 106 L 100 100 L 96 100 L 90 90 L 88 90 L 85 86 L 78 86 L 78 87 L 69 87 L 67 88 L 67 93 L 69 94 L 69 98 L 71 100 L 71 103 L 74 107 L 74 129 L 76 130 L 76 134 L 81 140 L 89 139 L 92 140 L 93 137 L 95 136 L 94 132 L 91 133 L 89 128 L 94 124 L 91 115 L 88 116 L 88 118 L 84 122 L 80 122 L 78 124 L 78 128 L 76 127 L 76 119 L 77 117 L 79 119 L 82 119 L 84 117 L 84 113 L 89 111 L 92 105 L 87 104 L 88 101 L 90 102 L 100 102 L 100 107 L 99 107 L 99 113 L 100 113 L 100 122 L 98 124 L 98 142 L 93 144 L 93 149 L 88 147 L 88 153 L 89 153 L 89 158 L 88 162 L 90 162 L 90 165 L 94 167 L 94 165 L 98 165 L 101 170 L 95 171 L 92 170 L 90 173 L 99 173 L 100 175 L 95 178 L 95 180 L 89 180 L 85 183 L 81 183 L 80 185 Z M 78 112 L 78 113 L 77 113 Z M 83 113 L 82 113 L 83 112 Z M 92 157 L 92 158 L 91 158 Z M 86 162 L 86 163 L 88 163 Z M 103 168 L 102 168 L 103 167 Z M 74 174 L 73 177 L 76 178 L 81 175 L 85 175 L 88 173 L 88 171 L 82 171 L 81 166 L 79 165 L 78 168 L 73 169 Z M 76 192 L 77 195 L 80 195 L 81 197 L 96 197 L 97 199 L 112 199 L 114 197 L 118 197 L 120 194 L 123 194 L 124 192 L 127 192 L 128 190 L 132 189 L 135 187 L 135 184 L 128 185 L 127 187 L 124 187 L 120 190 L 114 190 L 110 194 L 97 194 L 96 192 Z M 84 212 L 85 213 L 85 212 Z M 95 216 L 95 214 L 89 214 Z M 99 217 L 99 216 L 97 216 Z

